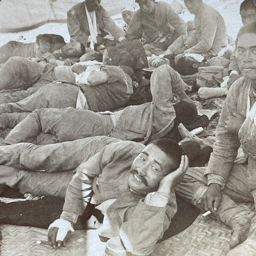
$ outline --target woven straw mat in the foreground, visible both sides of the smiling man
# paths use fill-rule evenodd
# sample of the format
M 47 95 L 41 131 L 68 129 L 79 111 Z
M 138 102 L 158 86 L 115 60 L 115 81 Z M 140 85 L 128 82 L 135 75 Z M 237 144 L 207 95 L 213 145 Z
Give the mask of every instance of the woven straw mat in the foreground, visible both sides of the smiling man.
M 47 240 L 47 230 L 2 224 L 1 256 L 103 256 L 97 230 L 75 231 L 65 248 L 36 244 Z M 198 216 L 185 231 L 157 245 L 152 256 L 224 256 L 231 229 L 209 217 Z

